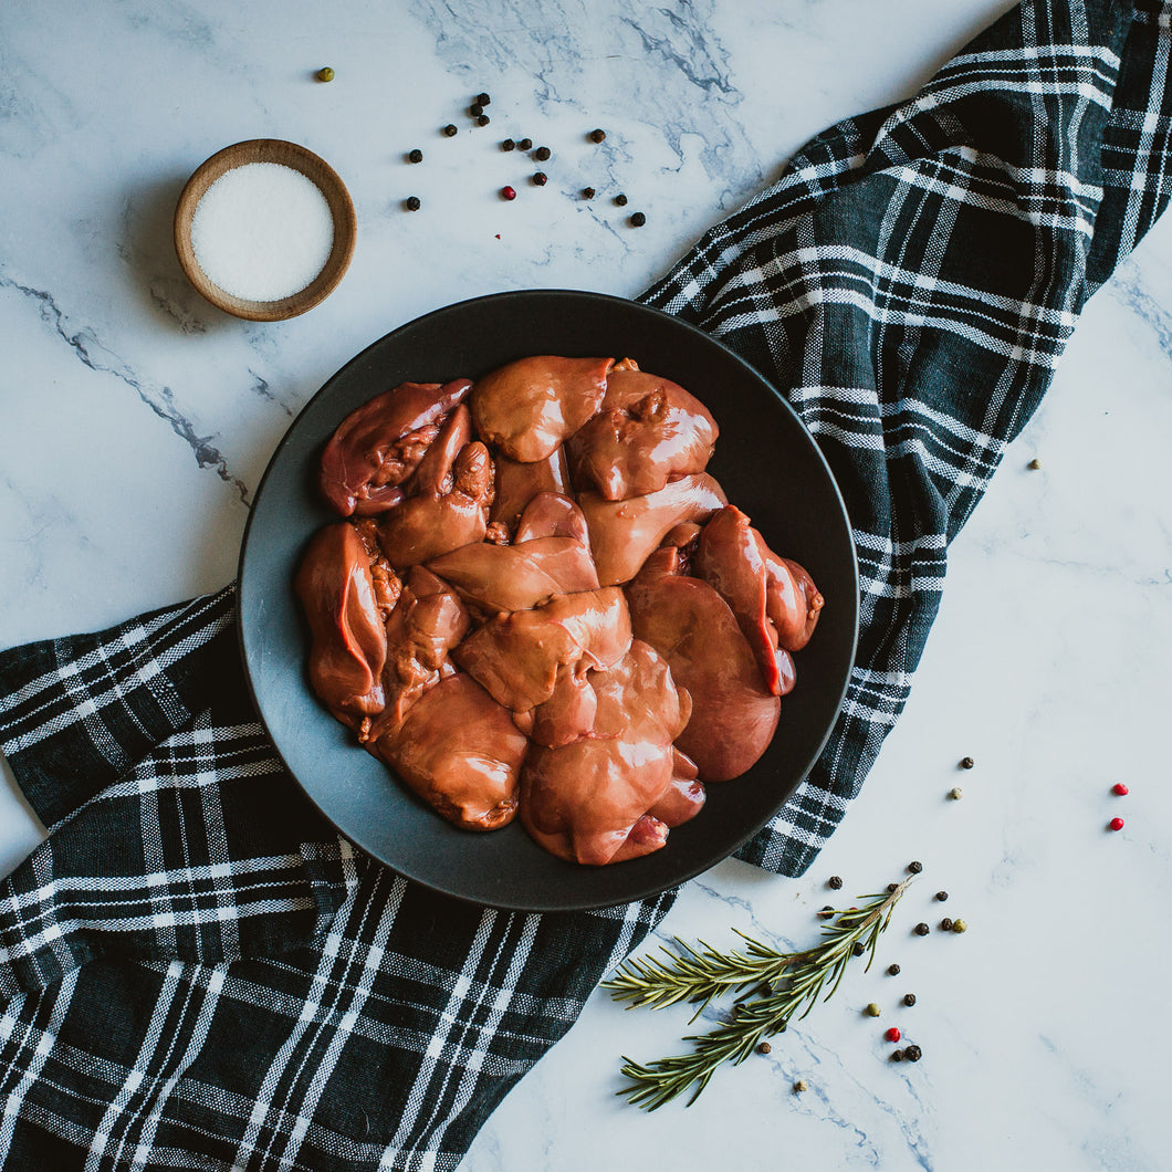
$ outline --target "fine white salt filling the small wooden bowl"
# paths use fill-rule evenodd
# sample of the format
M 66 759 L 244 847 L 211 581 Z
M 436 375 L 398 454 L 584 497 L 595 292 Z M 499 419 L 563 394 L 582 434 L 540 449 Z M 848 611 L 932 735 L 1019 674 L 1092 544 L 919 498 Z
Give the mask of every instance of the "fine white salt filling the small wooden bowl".
M 225 171 L 191 217 L 191 247 L 204 275 L 245 301 L 280 301 L 304 289 L 333 246 L 326 197 L 281 163 Z

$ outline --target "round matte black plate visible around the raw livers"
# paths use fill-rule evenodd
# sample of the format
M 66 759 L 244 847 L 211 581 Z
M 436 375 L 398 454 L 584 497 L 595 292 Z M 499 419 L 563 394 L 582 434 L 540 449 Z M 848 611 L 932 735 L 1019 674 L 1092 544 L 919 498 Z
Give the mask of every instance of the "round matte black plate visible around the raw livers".
M 316 701 L 292 580 L 311 534 L 333 518 L 316 491 L 322 445 L 360 403 L 400 382 L 476 379 L 527 354 L 631 356 L 687 387 L 716 416 L 709 471 L 769 544 L 826 597 L 777 735 L 743 777 L 708 786 L 700 816 L 642 859 L 565 863 L 518 822 L 461 831 L 421 804 Z M 297 417 L 257 490 L 244 534 L 239 625 L 245 672 L 277 751 L 338 829 L 389 867 L 459 899 L 524 911 L 604 907 L 672 887 L 759 830 L 817 759 L 854 657 L 858 572 L 841 497 L 810 435 L 761 375 L 675 318 L 620 298 L 537 289 L 438 309 L 387 334 L 338 372 Z M 735 737 L 737 730 L 730 728 Z

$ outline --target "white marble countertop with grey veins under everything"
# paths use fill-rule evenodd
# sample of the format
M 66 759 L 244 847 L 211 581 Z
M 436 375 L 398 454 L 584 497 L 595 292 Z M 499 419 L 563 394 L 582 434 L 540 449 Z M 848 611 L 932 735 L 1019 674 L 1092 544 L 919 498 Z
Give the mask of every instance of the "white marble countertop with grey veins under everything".
M 805 138 L 912 93 L 1007 7 L 4 6 L 0 646 L 222 586 L 273 448 L 350 355 L 481 293 L 635 295 Z M 329 84 L 312 77 L 323 64 Z M 492 124 L 472 130 L 462 110 L 482 89 Z M 585 139 L 595 125 L 604 148 Z M 551 146 L 546 188 L 498 149 L 506 135 Z M 359 218 L 339 289 L 278 325 L 204 304 L 170 239 L 188 175 L 265 136 L 325 156 Z M 403 161 L 414 146 L 418 166 Z M 575 198 L 587 184 L 592 203 Z M 627 226 L 618 191 L 645 227 Z M 418 212 L 402 209 L 411 195 Z M 619 1055 L 674 1052 L 688 1015 L 597 994 L 463 1168 L 585 1172 L 616 1153 L 677 1168 L 1168 1166 L 1170 363 L 1166 222 L 1091 301 L 953 546 L 907 711 L 817 865 L 789 880 L 724 863 L 687 885 L 660 933 L 798 946 L 829 875 L 863 894 L 921 859 L 877 968 L 695 1106 L 653 1116 L 614 1096 Z M 1109 792 L 1118 781 L 1129 797 Z M 1126 827 L 1109 833 L 1116 815 Z M 6 771 L 0 870 L 39 837 Z M 945 912 L 969 932 L 909 933 Z M 891 961 L 899 977 L 883 975 Z M 870 1001 L 878 1021 L 860 1013 Z M 887 1061 L 891 1024 L 920 1063 Z

